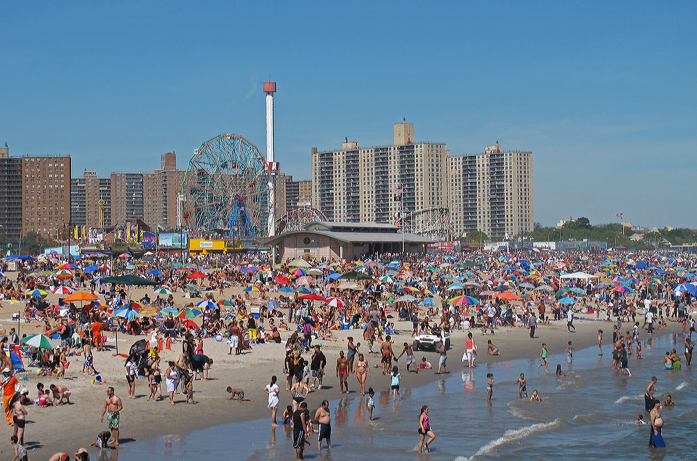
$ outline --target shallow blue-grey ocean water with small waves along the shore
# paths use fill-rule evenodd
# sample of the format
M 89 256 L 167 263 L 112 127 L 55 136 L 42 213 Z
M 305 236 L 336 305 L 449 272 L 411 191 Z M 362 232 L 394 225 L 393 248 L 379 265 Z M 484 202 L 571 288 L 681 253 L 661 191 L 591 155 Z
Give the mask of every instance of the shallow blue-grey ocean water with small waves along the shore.
M 569 335 L 569 338 L 573 336 Z M 663 356 L 673 347 L 682 355 L 680 335 L 641 338 L 643 359 L 631 356 L 634 377 L 611 370 L 612 354 L 604 347 L 574 352 L 568 362 L 565 352 L 551 350 L 549 373 L 537 369 L 539 360 L 515 360 L 474 370 L 459 361 L 450 362 L 445 379 L 416 389 L 403 389 L 401 402 L 393 403 L 388 381 L 376 388 L 374 423 L 367 421 L 365 399 L 359 395 L 332 400 L 332 450 L 316 451 L 316 439 L 305 450 L 305 459 L 332 461 L 380 460 L 510 460 L 510 459 L 650 459 L 694 458 L 697 433 L 697 382 L 692 367 L 665 370 Z M 457 357 L 459 358 L 459 357 Z M 480 355 L 480 358 L 482 356 Z M 569 377 L 556 377 L 562 365 Z M 494 375 L 493 400 L 487 402 L 487 373 Z M 542 402 L 521 400 L 516 381 L 527 378 L 528 395 L 537 389 Z M 634 420 L 643 414 L 643 394 L 652 375 L 658 377 L 657 398 L 671 394 L 675 407 L 664 408 L 664 439 L 667 448 L 650 448 L 650 425 Z M 379 391 L 379 392 L 378 392 Z M 330 395 L 328 393 L 328 395 Z M 419 410 L 429 405 L 436 440 L 431 453 L 416 451 Z M 266 416 L 264 406 L 260 410 Z M 314 409 L 311 409 L 314 412 Z M 289 428 L 272 430 L 268 418 L 245 423 L 218 425 L 188 434 L 165 435 L 126 444 L 120 461 L 201 458 L 205 460 L 294 459 Z M 101 453 L 114 460 L 116 453 Z M 113 451 L 112 451 L 113 452 Z M 95 452 L 96 453 L 96 452 Z

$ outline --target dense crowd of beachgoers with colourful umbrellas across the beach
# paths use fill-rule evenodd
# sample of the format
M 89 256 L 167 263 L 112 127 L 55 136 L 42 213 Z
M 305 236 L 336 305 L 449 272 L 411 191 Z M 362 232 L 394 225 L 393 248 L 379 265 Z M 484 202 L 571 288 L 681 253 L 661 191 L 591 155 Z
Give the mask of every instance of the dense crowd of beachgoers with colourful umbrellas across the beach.
M 167 400 L 174 405 L 175 393 L 186 396 L 186 403 L 196 403 L 194 380 L 208 380 L 213 359 L 204 354 L 204 338 L 227 343 L 229 354 L 235 355 L 253 353 L 259 344 L 285 343 L 283 385 L 291 394 L 291 419 L 295 421 L 308 394 L 323 389 L 328 366 L 341 393 L 358 386 L 361 395 L 372 378 L 371 368 L 377 368 L 374 373 L 381 371 L 390 379 L 385 385 L 390 386 L 393 399 L 399 400 L 402 375 L 397 361 L 401 357 L 406 356 L 407 372 L 431 369 L 426 357 L 418 361 L 415 353 L 425 335 L 436 338 L 434 350 L 439 359 L 434 373 L 449 373 L 447 338 L 452 331 L 470 330 L 463 361 L 473 367 L 477 353 L 473 332 L 492 335 L 504 327 L 523 327 L 535 338 L 535 330 L 551 321 L 565 319 L 567 331 L 572 332 L 576 315 L 595 315 L 597 319 L 603 315 L 602 320 L 615 323 L 613 367 L 631 373 L 627 354 L 634 347 L 641 357 L 639 329 L 653 334 L 674 321 L 682 322 L 682 330 L 690 338 L 694 331 L 690 314 L 697 289 L 691 282 L 697 276 L 689 272 L 696 263 L 689 256 L 479 252 L 381 255 L 353 261 L 298 259 L 280 265 L 271 264 L 263 253 L 191 255 L 185 263 L 180 263 L 180 258 L 158 254 L 139 259 L 138 265 L 128 257 L 115 258 L 109 264 L 104 260 L 71 260 L 61 265 L 49 256 L 24 260 L 16 279 L 0 279 L 0 297 L 24 302 L 20 322 L 43 322 L 43 334 L 56 338 L 59 345 L 52 349 L 27 347 L 22 343 L 25 338 L 20 340 L 10 331 L 3 340 L 3 350 L 23 354 L 37 364 L 38 375 L 57 380 L 66 377 L 68 357 L 80 352 L 84 354 L 83 372 L 98 377 L 99 364 L 94 363 L 92 350 L 105 347 L 106 332 L 149 336 L 143 347 L 131 348 L 125 359 L 128 398 L 136 397 L 137 381 L 143 378 L 148 400 L 167 399 L 162 393 L 164 375 Z M 130 286 L 105 283 L 107 273 L 149 279 L 155 284 L 153 296 L 132 300 Z M 46 290 L 84 290 L 96 299 L 86 303 L 60 299 L 52 304 L 47 301 Z M 185 302 L 178 304 L 175 294 Z M 636 320 L 638 316 L 643 317 L 643 325 Z M 392 336 L 399 334 L 395 327 L 399 320 L 411 322 L 413 331 L 404 347 L 395 351 Z M 622 334 L 622 325 L 631 325 L 626 334 Z M 346 350 L 339 352 L 333 369 L 319 342 L 337 341 L 337 331 L 346 329 L 360 331 L 362 341 L 348 336 Z M 287 335 L 286 341 L 282 334 Z M 181 341 L 181 354 L 161 363 L 160 352 L 171 349 L 174 341 Z M 689 339 L 687 345 L 684 354 L 689 365 Z M 599 347 L 602 354 L 602 331 Z M 369 364 L 371 353 L 378 354 L 378 363 Z M 500 354 L 491 340 L 487 341 L 487 354 Z M 545 371 L 548 354 L 551 352 L 543 344 L 540 366 Z M 570 341 L 569 357 L 573 357 Z M 27 401 L 26 392 L 13 389 L 12 360 L 4 354 L 2 358 L 8 370 L 3 376 L 9 377 L 9 384 L 3 384 L 6 414 L 16 408 L 13 419 L 22 421 L 26 416 L 22 405 L 27 403 L 20 403 L 20 399 L 25 396 Z M 666 353 L 666 368 L 680 368 L 680 363 L 675 350 Z M 266 390 L 274 425 L 280 400 L 276 383 L 274 377 Z M 490 387 L 489 398 L 493 376 Z M 523 380 L 521 396 L 524 387 Z M 50 389 L 44 391 L 42 384 L 38 405 L 70 403 L 66 386 L 52 384 Z M 242 389 L 231 388 L 229 392 L 231 398 L 244 399 Z M 120 399 L 118 402 L 121 405 Z M 114 445 L 118 444 L 118 405 L 105 403 L 104 410 Z M 312 420 L 298 418 L 301 425 Z M 21 445 L 24 425 L 15 425 Z M 429 435 L 427 425 L 420 430 Z M 423 442 L 426 449 L 429 443 Z

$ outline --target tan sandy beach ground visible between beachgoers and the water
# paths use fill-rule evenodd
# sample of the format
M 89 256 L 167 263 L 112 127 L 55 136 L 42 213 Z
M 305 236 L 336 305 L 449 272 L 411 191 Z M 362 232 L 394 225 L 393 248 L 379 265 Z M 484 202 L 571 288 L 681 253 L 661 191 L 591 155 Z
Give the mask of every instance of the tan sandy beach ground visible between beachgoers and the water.
M 86 291 L 86 290 L 85 290 Z M 132 292 L 132 299 L 139 299 L 150 290 L 135 289 Z M 225 295 L 240 292 L 240 289 L 228 288 Z M 49 300 L 57 302 L 58 295 L 48 295 Z M 183 306 L 190 299 L 183 298 L 181 293 L 176 293 L 176 302 Z M 10 327 L 17 327 L 17 322 L 12 322 L 12 314 L 24 308 L 22 302 L 1 302 L 0 309 L 0 328 L 9 331 Z M 601 314 L 601 318 L 603 315 Z M 550 368 L 554 364 L 564 360 L 565 350 L 568 341 L 573 341 L 577 349 L 597 345 L 597 330 L 604 330 L 604 346 L 607 353 L 611 353 L 612 325 L 608 322 L 587 320 L 595 319 L 595 314 L 583 315 L 574 321 L 576 333 L 567 332 L 566 321 L 559 320 L 551 322 L 551 325 L 541 325 L 535 332 L 535 338 L 529 337 L 529 330 L 523 327 L 499 327 L 496 334 L 484 335 L 481 331 L 474 330 L 474 338 L 479 348 L 477 364 L 496 363 L 498 361 L 509 361 L 512 359 L 535 358 L 539 356 L 542 342 L 547 344 L 548 350 L 555 354 L 551 357 Z M 643 318 L 638 317 L 642 321 Z M 399 334 L 392 336 L 393 348 L 399 354 L 401 345 L 405 341 L 411 343 L 411 322 L 395 322 Z M 682 324 L 678 322 L 668 322 L 664 330 L 657 330 L 656 334 L 666 334 L 679 332 Z M 22 334 L 36 334 L 40 331 L 37 322 L 22 323 L 20 336 Z M 457 330 L 452 334 L 452 346 L 448 351 L 447 364 L 452 371 L 459 371 L 463 368 L 461 356 L 464 352 L 464 343 L 467 331 Z M 289 332 L 282 333 L 285 340 Z M 196 405 L 185 405 L 184 396 L 175 396 L 176 405 L 172 406 L 167 400 L 158 402 L 148 402 L 148 386 L 146 380 L 138 380 L 136 395 L 138 398 L 128 398 L 128 386 L 125 381 L 125 359 L 114 357 L 115 343 L 114 333 L 106 332 L 109 338 L 106 352 L 94 353 L 94 365 L 100 372 L 104 384 L 91 384 L 91 377 L 82 372 L 82 356 L 72 355 L 70 366 L 66 371 L 66 379 L 55 377 L 38 377 L 35 373 L 36 368 L 29 367 L 28 373 L 21 373 L 19 376 L 26 376 L 28 381 L 22 384 L 29 389 L 31 398 L 36 398 L 36 383 L 43 382 L 49 384 L 64 384 L 72 391 L 72 405 L 60 405 L 58 407 L 38 407 L 29 406 L 27 410 L 26 425 L 26 446 L 29 450 L 30 459 L 49 458 L 52 453 L 63 451 L 74 453 L 80 446 L 89 446 L 95 439 L 98 432 L 107 429 L 107 423 L 100 422 L 100 414 L 107 386 L 114 386 L 116 395 L 123 400 L 123 410 L 121 412 L 121 444 L 127 444 L 135 440 L 144 440 L 158 435 L 189 432 L 190 430 L 210 427 L 221 423 L 233 421 L 247 421 L 251 419 L 266 418 L 270 416 L 267 409 L 267 394 L 264 386 L 270 381 L 272 375 L 279 377 L 279 386 L 284 389 L 282 362 L 284 359 L 284 343 L 257 345 L 252 351 L 235 356 L 229 355 L 229 347 L 225 343 L 217 343 L 215 338 L 204 340 L 204 354 L 214 360 L 210 369 L 210 380 L 207 382 L 197 381 L 194 383 L 194 400 Z M 361 352 L 366 353 L 365 341 L 362 341 L 362 334 L 359 330 L 336 331 L 335 337 L 339 341 L 315 341 L 322 344 L 323 351 L 328 359 L 326 368 L 324 389 L 313 391 L 307 398 L 309 407 L 317 407 L 321 400 L 337 398 L 339 396 L 339 381 L 335 377 L 336 359 L 339 350 L 346 350 L 346 336 L 353 336 L 355 341 L 364 343 Z M 644 336 L 644 335 L 642 335 Z M 644 336 L 645 337 L 645 336 Z M 121 353 L 128 352 L 130 345 L 139 339 L 149 339 L 149 336 L 128 336 L 120 334 L 118 339 L 118 350 Z M 487 355 L 487 340 L 491 339 L 493 344 L 499 347 L 500 356 Z M 378 347 L 375 347 L 378 350 Z M 173 360 L 176 354 L 181 352 L 181 342 L 172 345 L 171 350 L 162 351 L 162 363 Z M 305 358 L 309 359 L 309 353 Z M 418 359 L 425 356 L 434 365 L 438 363 L 438 354 L 435 352 L 416 352 Z M 372 367 L 379 364 L 378 354 L 366 354 L 366 359 Z M 404 359 L 397 363 L 400 368 L 404 366 Z M 26 366 L 26 359 L 25 359 Z M 427 384 L 438 379 L 434 374 L 435 370 L 427 370 L 426 373 L 403 373 L 402 386 L 413 388 Z M 376 391 L 388 389 L 389 380 L 381 374 L 379 368 L 371 368 L 372 377 L 366 382 L 366 387 L 372 386 Z M 164 384 L 164 383 L 163 383 Z M 348 377 L 348 384 L 352 387 L 352 392 L 358 389 L 358 382 L 354 376 Z M 245 397 L 250 398 L 250 402 L 238 402 L 236 400 L 226 400 L 229 394 L 225 391 L 227 386 L 239 387 L 244 389 Z M 282 392 L 280 398 L 279 416 L 282 409 L 289 405 L 291 398 L 289 393 Z M 12 434 L 11 426 L 6 426 L 5 438 L 9 439 Z M 3 447 L 0 453 L 11 455 L 10 444 L 0 444 Z M 72 451 L 71 451 L 72 450 Z

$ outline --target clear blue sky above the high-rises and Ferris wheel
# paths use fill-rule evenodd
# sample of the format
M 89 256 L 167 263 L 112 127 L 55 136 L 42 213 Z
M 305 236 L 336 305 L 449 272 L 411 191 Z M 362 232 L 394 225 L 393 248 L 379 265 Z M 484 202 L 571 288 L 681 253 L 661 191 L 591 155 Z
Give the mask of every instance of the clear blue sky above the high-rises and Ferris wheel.
M 524 4 L 523 4 L 524 3 Z M 24 2 L 0 4 L 0 141 L 10 155 L 152 171 L 220 133 L 276 159 L 392 143 L 534 153 L 535 221 L 697 228 L 697 3 Z

